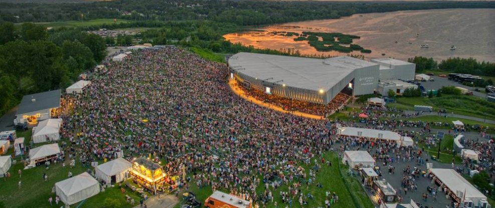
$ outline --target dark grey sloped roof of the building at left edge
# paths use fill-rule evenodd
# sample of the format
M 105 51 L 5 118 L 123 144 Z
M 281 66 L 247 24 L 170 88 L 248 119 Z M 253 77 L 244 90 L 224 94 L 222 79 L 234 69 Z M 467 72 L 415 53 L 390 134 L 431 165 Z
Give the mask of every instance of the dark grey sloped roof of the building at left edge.
M 54 107 L 60 107 L 60 89 L 24 95 L 16 115 Z

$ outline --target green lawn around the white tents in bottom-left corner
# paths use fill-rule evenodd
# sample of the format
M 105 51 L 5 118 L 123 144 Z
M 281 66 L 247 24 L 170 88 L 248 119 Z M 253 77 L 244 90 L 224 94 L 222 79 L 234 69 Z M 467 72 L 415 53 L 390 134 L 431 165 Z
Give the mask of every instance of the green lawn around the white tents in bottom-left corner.
M 17 131 L 17 136 L 25 137 L 25 143 L 26 145 L 29 145 L 31 133 L 31 129 Z M 42 144 L 44 143 L 39 143 L 35 146 L 40 146 Z M 14 148 L 10 148 L 8 154 L 5 155 L 12 153 L 14 153 Z M 55 193 L 52 193 L 52 187 L 54 187 L 56 182 L 67 179 L 69 171 L 71 171 L 73 175 L 78 175 L 88 169 L 88 167 L 83 167 L 81 163 L 78 163 L 77 160 L 74 168 L 70 168 L 69 165 L 63 167 L 61 163 L 57 163 L 51 164 L 48 169 L 46 169 L 44 165 L 41 165 L 25 170 L 24 163 L 21 161 L 21 156 L 15 157 L 14 159 L 17 163 L 13 164 L 9 169 L 12 176 L 10 178 L 0 178 L 0 201 L 3 201 L 6 207 L 60 207 L 62 205 L 60 202 L 59 206 L 55 206 Z M 93 167 L 89 168 L 91 168 L 91 170 L 94 169 Z M 22 177 L 18 174 L 19 169 L 23 172 Z M 43 173 L 48 174 L 48 181 L 43 180 Z M 21 188 L 18 186 L 20 180 L 22 181 Z M 138 204 L 140 197 L 136 193 L 133 193 L 129 188 L 126 188 L 126 190 L 126 194 L 134 198 L 136 204 Z M 49 197 L 53 197 L 54 199 L 54 204 L 52 206 L 50 206 L 50 203 L 48 202 Z M 103 207 L 103 201 L 106 198 L 117 199 L 120 202 L 119 207 L 132 207 L 126 202 L 125 194 L 120 192 L 120 187 L 118 187 L 118 185 L 113 188 L 106 188 L 105 192 L 100 192 L 93 197 L 71 205 L 71 207 Z

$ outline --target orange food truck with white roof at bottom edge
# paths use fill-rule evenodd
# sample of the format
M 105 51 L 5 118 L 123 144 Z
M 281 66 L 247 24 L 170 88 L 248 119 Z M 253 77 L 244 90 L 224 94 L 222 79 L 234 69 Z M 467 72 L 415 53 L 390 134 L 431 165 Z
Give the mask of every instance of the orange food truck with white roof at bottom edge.
M 209 208 L 251 208 L 251 202 L 238 196 L 215 190 L 204 200 L 204 206 Z

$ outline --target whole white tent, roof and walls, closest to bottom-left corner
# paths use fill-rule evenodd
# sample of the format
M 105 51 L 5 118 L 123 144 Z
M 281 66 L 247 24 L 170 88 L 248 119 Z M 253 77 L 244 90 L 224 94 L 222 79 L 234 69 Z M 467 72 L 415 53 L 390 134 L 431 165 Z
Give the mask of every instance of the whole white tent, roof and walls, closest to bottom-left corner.
M 74 204 L 100 192 L 100 184 L 87 172 L 55 183 L 55 191 L 65 204 Z

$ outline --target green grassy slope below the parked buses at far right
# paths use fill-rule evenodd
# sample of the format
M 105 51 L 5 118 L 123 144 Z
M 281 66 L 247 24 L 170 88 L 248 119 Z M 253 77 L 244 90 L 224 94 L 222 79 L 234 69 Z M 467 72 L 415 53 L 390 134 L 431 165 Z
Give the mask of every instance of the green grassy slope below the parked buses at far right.
M 495 103 L 469 95 L 443 95 L 441 97 L 398 97 L 396 103 L 387 104 L 399 109 L 413 110 L 414 105 L 432 106 L 434 111 L 446 109 L 449 113 L 495 119 Z

